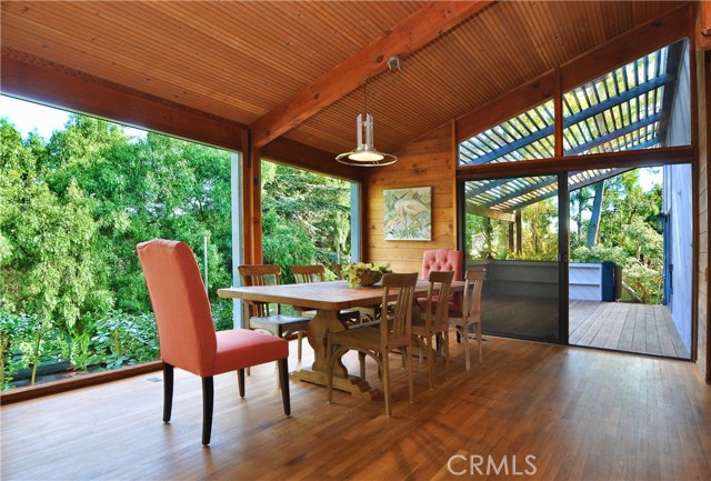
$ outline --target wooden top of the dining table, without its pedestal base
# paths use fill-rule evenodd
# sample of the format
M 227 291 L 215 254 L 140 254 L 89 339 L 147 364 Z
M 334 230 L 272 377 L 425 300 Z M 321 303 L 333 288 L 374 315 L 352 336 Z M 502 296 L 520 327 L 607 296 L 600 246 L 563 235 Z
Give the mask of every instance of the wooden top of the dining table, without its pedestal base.
M 427 295 L 429 282 L 418 281 L 415 297 Z M 464 289 L 464 282 L 454 281 L 450 292 Z M 309 309 L 342 310 L 362 305 L 377 305 L 382 301 L 382 284 L 349 288 L 346 281 L 310 282 L 281 285 L 250 285 L 218 289 L 221 298 L 246 301 L 276 302 Z M 395 297 L 392 297 L 394 300 Z

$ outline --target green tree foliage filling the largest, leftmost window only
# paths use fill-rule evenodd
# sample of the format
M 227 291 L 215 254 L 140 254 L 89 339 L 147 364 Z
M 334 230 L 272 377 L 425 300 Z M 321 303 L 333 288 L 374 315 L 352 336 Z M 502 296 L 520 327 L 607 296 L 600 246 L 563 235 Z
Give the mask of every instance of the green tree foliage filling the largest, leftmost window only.
M 57 342 L 73 339 L 62 357 L 86 364 L 100 349 L 90 332 L 97 319 L 111 309 L 126 319 L 150 312 L 138 242 L 180 239 L 202 263 L 208 236 L 209 291 L 231 283 L 228 152 L 153 133 L 131 138 L 83 116 L 70 116 L 49 141 L 22 140 L 6 120 L 0 136 L 0 314 L 14 327 L 12 337 L 2 332 L 3 361 L 20 350 L 36 369 Z M 226 304 L 216 318 L 231 324 Z

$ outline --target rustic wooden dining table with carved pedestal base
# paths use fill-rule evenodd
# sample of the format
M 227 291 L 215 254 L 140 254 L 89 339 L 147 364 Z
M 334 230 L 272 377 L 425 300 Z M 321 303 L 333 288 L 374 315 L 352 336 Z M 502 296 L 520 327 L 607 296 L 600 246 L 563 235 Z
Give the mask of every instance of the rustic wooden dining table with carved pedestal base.
M 420 280 L 414 288 L 414 299 L 427 297 L 429 282 Z M 464 282 L 454 281 L 450 292 L 460 292 Z M 392 292 L 392 299 L 397 292 Z M 289 304 L 299 310 L 314 310 L 316 315 L 309 321 L 307 335 L 309 344 L 313 348 L 314 360 L 311 367 L 302 367 L 291 373 L 292 379 L 327 385 L 328 382 L 328 355 L 327 342 L 330 332 L 339 332 L 350 328 L 339 319 L 339 312 L 344 309 L 361 307 L 375 307 L 382 303 L 383 287 L 381 283 L 373 285 L 359 285 L 351 288 L 346 281 L 310 282 L 279 285 L 249 285 L 218 289 L 218 295 L 227 299 L 241 299 L 243 301 L 269 302 Z M 413 303 L 412 315 L 419 315 L 421 309 Z M 354 328 L 369 329 L 369 328 Z M 372 399 L 379 395 L 379 391 L 371 389 L 364 379 L 348 373 L 348 369 L 336 360 L 333 367 L 333 389 L 350 392 L 353 395 Z

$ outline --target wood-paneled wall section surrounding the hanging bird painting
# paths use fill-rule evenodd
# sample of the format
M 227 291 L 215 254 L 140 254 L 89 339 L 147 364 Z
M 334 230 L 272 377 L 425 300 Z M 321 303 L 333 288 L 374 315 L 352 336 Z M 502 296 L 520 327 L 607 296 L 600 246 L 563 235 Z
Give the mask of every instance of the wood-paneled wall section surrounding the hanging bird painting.
M 368 176 L 364 202 L 364 260 L 390 264 L 395 272 L 420 272 L 422 253 L 457 248 L 455 152 L 452 126 L 444 124 L 398 152 L 398 162 Z M 383 239 L 383 191 L 432 188 L 432 240 Z

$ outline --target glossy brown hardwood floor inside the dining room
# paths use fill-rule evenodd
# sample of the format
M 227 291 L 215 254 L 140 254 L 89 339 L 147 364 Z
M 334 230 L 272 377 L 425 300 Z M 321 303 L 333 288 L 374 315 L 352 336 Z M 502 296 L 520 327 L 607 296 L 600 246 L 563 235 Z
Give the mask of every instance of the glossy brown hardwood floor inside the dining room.
M 276 367 L 252 369 L 246 399 L 236 374 L 219 375 L 210 448 L 200 444 L 200 380 L 178 370 L 170 424 L 161 421 L 160 373 L 4 405 L 1 477 L 711 479 L 711 388 L 688 362 L 489 337 L 483 363 L 467 372 L 462 347 L 451 352 L 450 379 L 438 369 L 433 391 L 427 363 L 415 362 L 414 404 L 404 372 L 393 370 L 392 418 L 382 400 L 334 392 L 328 405 L 326 389 L 300 382 L 291 383 L 293 415 L 284 418 Z M 356 355 L 346 363 L 357 372 Z M 535 457 L 535 472 L 514 474 L 513 455 L 519 473 L 531 473 L 524 460 Z M 470 473 L 469 457 L 481 457 L 473 460 L 482 474 Z M 450 459 L 461 475 L 450 473 Z

